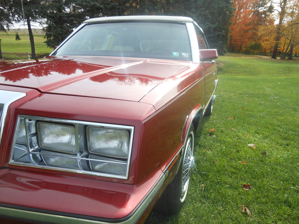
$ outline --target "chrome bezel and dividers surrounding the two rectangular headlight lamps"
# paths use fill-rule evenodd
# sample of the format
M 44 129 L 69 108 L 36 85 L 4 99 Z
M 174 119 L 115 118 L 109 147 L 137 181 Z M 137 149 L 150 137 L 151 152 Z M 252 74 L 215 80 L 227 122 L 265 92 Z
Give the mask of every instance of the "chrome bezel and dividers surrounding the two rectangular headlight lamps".
M 55 148 L 57 144 L 51 145 L 51 141 L 49 141 L 50 144 L 43 144 L 44 139 L 41 137 L 42 127 L 40 127 L 40 124 L 49 128 L 61 126 L 66 127 L 66 130 L 68 128 L 70 128 L 69 130 L 74 130 L 74 136 L 72 137 L 75 138 L 75 150 L 67 147 Z M 126 141 L 128 146 L 126 156 L 117 155 L 117 151 L 107 155 L 89 150 L 88 128 L 104 128 L 128 132 L 128 135 L 125 135 L 128 137 L 128 142 Z M 48 133 L 49 131 L 46 132 L 47 137 L 50 136 Z M 133 135 L 134 126 L 129 125 L 18 115 L 9 164 L 128 179 Z M 115 171 L 113 167 L 116 167 Z

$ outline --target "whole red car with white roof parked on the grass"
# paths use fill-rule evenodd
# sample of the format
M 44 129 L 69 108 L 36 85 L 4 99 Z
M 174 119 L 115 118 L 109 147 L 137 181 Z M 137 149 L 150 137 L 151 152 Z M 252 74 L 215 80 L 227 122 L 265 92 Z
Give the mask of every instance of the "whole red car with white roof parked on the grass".
M 191 18 L 120 16 L 86 20 L 46 59 L 1 62 L 1 219 L 177 213 L 217 57 Z

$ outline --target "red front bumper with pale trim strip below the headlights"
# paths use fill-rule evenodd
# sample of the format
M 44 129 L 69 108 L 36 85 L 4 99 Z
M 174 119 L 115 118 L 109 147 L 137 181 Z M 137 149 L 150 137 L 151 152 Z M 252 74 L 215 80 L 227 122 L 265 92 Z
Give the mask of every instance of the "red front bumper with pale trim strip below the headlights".
M 133 186 L 2 169 L 0 217 L 33 223 L 136 223 L 155 203 L 166 176 L 156 173 Z

